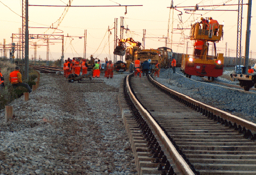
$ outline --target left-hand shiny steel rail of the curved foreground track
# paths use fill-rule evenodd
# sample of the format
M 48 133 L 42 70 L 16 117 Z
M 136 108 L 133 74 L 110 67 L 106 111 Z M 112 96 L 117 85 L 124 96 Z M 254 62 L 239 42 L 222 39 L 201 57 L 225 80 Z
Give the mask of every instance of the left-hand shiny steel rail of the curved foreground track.
M 132 93 L 129 78 L 132 74 L 126 77 L 126 88 L 129 91 L 129 96 L 132 102 L 135 104 L 136 108 L 140 111 L 140 113 L 146 118 L 146 120 L 151 124 L 154 132 L 156 132 L 158 138 L 161 143 L 165 146 L 165 149 L 168 151 L 169 156 L 173 159 L 173 162 L 177 165 L 178 169 L 184 175 L 194 175 L 194 172 L 190 169 L 190 166 L 186 163 L 183 157 L 180 156 L 174 145 L 171 143 L 170 139 L 166 136 L 165 132 L 161 129 L 158 123 L 153 119 L 150 113 L 140 104 L 140 102 L 136 99 L 136 96 Z

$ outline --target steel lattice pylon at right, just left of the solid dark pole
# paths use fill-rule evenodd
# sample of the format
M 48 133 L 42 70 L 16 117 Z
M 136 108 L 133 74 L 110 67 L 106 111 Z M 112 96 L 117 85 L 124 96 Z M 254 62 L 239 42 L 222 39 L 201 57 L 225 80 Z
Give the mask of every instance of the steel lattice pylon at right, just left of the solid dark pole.
M 242 0 L 238 0 L 237 65 L 241 65 Z M 238 61 L 239 59 L 239 61 Z

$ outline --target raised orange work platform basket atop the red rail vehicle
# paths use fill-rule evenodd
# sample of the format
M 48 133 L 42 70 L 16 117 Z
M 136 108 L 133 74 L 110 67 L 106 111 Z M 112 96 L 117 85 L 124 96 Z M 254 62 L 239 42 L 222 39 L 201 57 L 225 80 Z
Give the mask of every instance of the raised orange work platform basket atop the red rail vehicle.
M 223 25 L 217 24 L 193 24 L 190 31 L 191 40 L 220 41 L 223 36 Z

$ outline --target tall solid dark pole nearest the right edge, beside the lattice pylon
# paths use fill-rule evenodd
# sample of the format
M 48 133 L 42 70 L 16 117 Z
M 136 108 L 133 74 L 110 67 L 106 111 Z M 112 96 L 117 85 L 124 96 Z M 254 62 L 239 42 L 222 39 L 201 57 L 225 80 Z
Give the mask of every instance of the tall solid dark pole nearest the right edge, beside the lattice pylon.
M 251 13 L 252 13 L 252 0 L 248 0 L 246 38 L 245 38 L 245 71 L 246 73 L 248 72 L 248 64 L 249 64 Z

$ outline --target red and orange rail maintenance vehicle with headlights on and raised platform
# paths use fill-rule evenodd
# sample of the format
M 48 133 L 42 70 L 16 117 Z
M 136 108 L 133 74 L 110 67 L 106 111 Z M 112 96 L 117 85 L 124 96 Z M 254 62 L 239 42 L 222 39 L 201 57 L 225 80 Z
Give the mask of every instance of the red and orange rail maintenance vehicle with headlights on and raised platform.
M 190 39 L 195 41 L 194 52 L 192 55 L 184 54 L 181 60 L 181 72 L 187 78 L 196 75 L 200 77 L 208 76 L 208 80 L 211 78 L 214 80 L 214 78 L 223 74 L 223 53 L 217 54 L 215 45 L 215 42 L 220 41 L 221 37 L 223 37 L 223 25 L 218 23 L 195 23 L 191 25 Z M 213 43 L 214 55 L 208 55 L 209 41 Z M 196 46 L 197 42 L 201 43 L 199 47 Z

